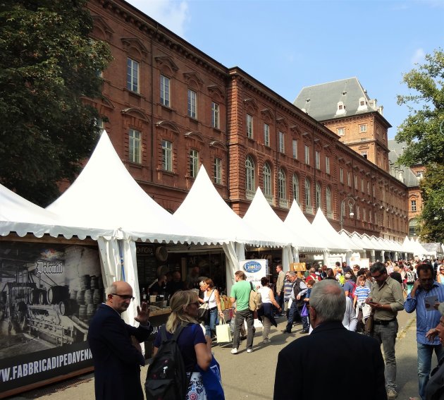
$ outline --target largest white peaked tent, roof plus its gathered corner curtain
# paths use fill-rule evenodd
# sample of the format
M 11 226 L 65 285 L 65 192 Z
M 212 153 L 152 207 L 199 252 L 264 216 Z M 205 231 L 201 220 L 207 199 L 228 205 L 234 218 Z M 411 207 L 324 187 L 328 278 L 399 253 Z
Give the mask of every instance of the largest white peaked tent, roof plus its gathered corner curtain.
M 118 235 L 110 240 L 98 238 L 102 277 L 106 286 L 125 279 L 137 298 L 140 291 L 135 239 L 167 243 L 207 240 L 175 219 L 140 188 L 121 162 L 106 132 L 101 134 L 78 178 L 47 210 L 69 216 L 80 225 L 118 229 Z M 134 323 L 135 313 L 136 303 L 132 302 L 125 320 Z

